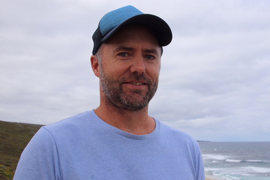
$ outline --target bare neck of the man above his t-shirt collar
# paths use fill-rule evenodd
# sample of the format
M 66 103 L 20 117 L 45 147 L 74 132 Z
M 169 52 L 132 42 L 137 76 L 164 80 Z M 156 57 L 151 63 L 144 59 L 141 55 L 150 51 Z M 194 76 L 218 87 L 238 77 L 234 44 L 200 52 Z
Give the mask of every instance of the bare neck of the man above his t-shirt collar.
M 117 107 L 101 103 L 94 111 L 106 123 L 130 134 L 145 135 L 155 129 L 155 120 L 148 116 L 148 107 L 131 111 L 120 110 Z

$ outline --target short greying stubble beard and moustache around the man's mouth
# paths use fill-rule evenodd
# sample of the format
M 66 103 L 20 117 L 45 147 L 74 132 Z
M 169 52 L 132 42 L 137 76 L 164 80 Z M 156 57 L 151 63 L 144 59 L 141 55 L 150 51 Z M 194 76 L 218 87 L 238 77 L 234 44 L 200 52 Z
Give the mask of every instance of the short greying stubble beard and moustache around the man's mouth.
M 152 82 L 145 77 L 144 74 L 139 75 L 138 73 L 132 73 L 128 77 L 121 79 L 114 79 L 109 75 L 106 75 L 102 66 L 100 68 L 100 82 L 101 88 L 104 92 L 107 102 L 112 103 L 115 107 L 121 110 L 131 110 L 139 111 L 148 106 L 150 100 L 155 95 L 158 88 L 158 79 L 155 82 Z M 143 80 L 147 82 L 148 91 L 143 94 L 142 90 L 130 90 L 130 93 L 127 94 L 123 90 L 123 82 L 125 80 Z

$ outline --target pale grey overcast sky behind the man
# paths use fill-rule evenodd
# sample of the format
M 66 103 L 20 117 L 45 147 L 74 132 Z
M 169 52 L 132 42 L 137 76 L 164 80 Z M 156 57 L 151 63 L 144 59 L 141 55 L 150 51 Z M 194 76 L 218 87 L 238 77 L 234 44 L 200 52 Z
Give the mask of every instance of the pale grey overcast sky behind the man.
M 196 140 L 270 141 L 268 0 L 1 1 L 0 120 L 47 125 L 98 107 L 92 34 L 126 5 L 173 32 L 151 116 Z

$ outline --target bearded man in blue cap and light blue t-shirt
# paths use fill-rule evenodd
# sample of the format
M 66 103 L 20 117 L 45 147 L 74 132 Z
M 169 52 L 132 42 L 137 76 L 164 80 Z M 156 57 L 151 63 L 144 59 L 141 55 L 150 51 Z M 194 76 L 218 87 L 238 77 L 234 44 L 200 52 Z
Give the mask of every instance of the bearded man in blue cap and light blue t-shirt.
M 127 6 L 102 17 L 93 40 L 100 106 L 42 127 L 14 179 L 204 179 L 198 143 L 148 115 L 168 24 Z

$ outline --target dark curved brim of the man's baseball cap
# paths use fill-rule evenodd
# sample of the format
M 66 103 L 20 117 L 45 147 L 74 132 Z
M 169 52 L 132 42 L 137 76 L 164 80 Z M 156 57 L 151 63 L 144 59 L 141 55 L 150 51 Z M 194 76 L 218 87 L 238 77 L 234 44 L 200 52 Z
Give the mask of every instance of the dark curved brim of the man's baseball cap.
M 157 36 L 158 43 L 160 46 L 167 46 L 172 41 L 173 35 L 169 25 L 158 16 L 152 14 L 139 14 L 127 19 L 117 27 L 107 33 L 101 43 L 104 43 L 110 39 L 120 28 L 125 25 L 143 25 L 150 28 L 153 33 Z

